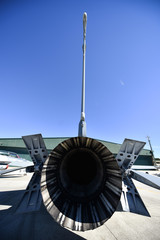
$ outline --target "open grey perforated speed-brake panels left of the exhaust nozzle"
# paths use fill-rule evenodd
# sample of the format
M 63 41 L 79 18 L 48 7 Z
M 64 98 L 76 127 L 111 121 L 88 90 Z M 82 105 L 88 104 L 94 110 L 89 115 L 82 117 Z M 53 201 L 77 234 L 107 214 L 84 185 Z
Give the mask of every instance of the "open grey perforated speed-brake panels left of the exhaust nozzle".
M 48 152 L 41 134 L 23 136 L 23 141 L 34 162 L 34 174 L 18 203 L 16 213 L 38 211 L 42 196 L 40 191 L 41 168 L 48 157 Z

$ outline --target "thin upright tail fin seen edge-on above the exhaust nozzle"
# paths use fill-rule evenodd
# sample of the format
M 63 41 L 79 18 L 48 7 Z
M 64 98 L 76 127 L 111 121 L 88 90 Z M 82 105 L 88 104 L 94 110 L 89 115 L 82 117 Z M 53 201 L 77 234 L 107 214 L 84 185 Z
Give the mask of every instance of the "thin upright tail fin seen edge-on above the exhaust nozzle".
M 81 119 L 79 122 L 79 137 L 86 137 L 86 122 L 85 122 L 85 61 L 86 61 L 86 26 L 87 13 L 83 14 L 83 68 L 82 68 L 82 102 L 81 102 Z

